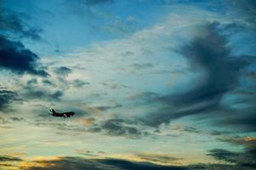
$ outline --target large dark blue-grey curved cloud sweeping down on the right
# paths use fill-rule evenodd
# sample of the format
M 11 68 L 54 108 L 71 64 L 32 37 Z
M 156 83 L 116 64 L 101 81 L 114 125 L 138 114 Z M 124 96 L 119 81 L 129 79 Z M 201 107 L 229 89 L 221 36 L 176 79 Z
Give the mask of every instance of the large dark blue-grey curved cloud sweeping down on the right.
M 226 37 L 211 23 L 202 28 L 200 36 L 176 50 L 191 65 L 191 71 L 204 71 L 206 77 L 182 94 L 170 94 L 152 99 L 151 103 L 162 105 L 152 112 L 145 124 L 158 126 L 171 120 L 196 114 L 223 112 L 220 101 L 238 86 L 242 70 L 253 62 L 253 56 L 232 56 Z

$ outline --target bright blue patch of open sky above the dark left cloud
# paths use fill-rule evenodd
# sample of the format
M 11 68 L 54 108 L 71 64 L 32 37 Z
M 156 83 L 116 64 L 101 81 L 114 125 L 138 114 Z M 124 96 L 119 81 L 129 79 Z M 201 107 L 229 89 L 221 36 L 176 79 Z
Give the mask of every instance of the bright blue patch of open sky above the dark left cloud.
M 6 1 L 5 6 L 28 15 L 31 17 L 31 26 L 43 29 L 43 41 L 23 42 L 35 52 L 48 55 L 53 55 L 56 50 L 68 53 L 75 48 L 87 47 L 93 42 L 127 37 L 135 31 L 153 26 L 163 15 L 161 7 L 140 1 L 115 1 L 89 7 L 81 3 L 80 8 L 71 3 L 75 1 L 10 0 Z M 129 28 L 129 19 L 134 19 L 136 26 Z M 127 26 L 128 32 L 120 34 L 105 29 L 105 26 L 115 26 L 113 23 L 116 20 Z

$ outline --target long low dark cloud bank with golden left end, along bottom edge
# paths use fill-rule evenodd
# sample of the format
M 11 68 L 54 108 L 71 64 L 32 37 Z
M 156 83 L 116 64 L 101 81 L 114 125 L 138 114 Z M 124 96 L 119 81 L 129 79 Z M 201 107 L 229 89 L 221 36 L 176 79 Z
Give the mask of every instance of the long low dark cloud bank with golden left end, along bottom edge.
M 90 152 L 88 152 L 90 154 Z M 165 159 L 165 158 L 163 158 Z M 253 170 L 250 165 L 227 165 L 227 164 L 200 164 L 189 166 L 163 166 L 150 163 L 149 161 L 127 161 L 121 159 L 87 159 L 80 156 L 60 156 L 54 159 L 41 159 L 28 161 L 20 164 L 20 169 L 24 170 Z

